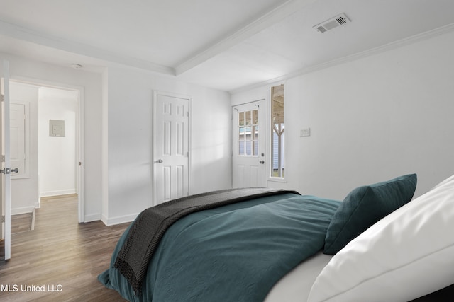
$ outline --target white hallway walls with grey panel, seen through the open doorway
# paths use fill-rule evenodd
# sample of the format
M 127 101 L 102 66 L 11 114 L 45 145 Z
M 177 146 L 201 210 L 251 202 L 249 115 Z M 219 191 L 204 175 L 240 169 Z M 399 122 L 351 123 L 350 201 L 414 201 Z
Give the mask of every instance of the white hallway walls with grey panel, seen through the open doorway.
M 12 140 L 18 138 L 11 146 L 25 153 L 18 156 L 23 169 L 11 175 L 11 214 L 39 208 L 42 197 L 77 195 L 84 222 L 82 89 L 28 81 L 11 81 L 10 87 L 11 104 L 26 108 L 26 139 L 11 132 Z

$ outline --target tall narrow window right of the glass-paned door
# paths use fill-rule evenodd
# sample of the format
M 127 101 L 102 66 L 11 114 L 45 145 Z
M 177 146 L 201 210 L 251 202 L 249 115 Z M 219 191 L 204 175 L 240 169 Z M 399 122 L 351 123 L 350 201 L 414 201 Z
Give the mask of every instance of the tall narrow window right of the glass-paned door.
M 271 88 L 271 165 L 272 178 L 284 178 L 284 85 Z

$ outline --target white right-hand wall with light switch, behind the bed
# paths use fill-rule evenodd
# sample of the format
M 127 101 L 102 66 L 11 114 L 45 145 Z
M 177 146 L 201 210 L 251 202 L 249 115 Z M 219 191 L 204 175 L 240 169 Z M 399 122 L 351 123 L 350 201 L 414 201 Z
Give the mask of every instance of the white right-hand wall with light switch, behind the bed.
M 415 196 L 454 174 L 454 33 L 285 81 L 287 183 L 343 199 L 359 186 L 418 174 Z M 267 97 L 268 87 L 232 96 Z M 310 137 L 299 137 L 311 128 Z

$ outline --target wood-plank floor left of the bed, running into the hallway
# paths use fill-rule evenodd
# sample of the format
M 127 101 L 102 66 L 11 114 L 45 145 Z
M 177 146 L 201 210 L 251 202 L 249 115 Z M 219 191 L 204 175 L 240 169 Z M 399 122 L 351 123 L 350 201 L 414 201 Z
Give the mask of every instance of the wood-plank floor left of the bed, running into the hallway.
M 0 301 L 125 301 L 96 278 L 126 227 L 78 223 L 76 195 L 42 199 L 35 229 L 12 234 L 11 260 L 0 261 Z

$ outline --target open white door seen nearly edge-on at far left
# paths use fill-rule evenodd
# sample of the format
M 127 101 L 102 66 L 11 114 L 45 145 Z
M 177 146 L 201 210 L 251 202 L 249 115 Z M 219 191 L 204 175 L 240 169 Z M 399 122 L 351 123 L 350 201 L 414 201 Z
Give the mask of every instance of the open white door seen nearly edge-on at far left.
M 1 85 L 0 144 L 1 154 L 1 208 L 4 222 L 1 223 L 1 235 L 4 240 L 4 259 L 11 258 L 11 163 L 9 159 L 9 62 L 3 62 L 3 81 Z M 3 220 L 3 219 L 2 219 Z

